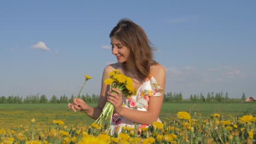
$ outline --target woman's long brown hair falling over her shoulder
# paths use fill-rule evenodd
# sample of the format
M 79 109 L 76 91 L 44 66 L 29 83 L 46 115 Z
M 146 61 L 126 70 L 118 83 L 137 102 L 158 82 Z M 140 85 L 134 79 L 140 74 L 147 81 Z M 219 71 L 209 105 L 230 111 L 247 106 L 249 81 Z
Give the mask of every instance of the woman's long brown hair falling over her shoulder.
M 109 34 L 130 50 L 138 76 L 144 80 L 150 75 L 150 65 L 156 64 L 153 58 L 154 48 L 144 30 L 129 19 L 121 19 Z M 124 70 L 126 64 L 123 63 Z

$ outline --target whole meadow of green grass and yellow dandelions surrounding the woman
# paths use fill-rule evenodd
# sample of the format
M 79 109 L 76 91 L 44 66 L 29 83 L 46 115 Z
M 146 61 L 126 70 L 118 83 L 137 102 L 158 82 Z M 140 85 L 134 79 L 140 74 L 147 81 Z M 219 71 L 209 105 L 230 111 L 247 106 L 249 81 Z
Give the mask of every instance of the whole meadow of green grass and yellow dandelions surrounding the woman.
M 96 104 L 89 104 L 96 106 Z M 160 122 L 109 133 L 67 104 L 1 104 L 2 143 L 248 143 L 256 142 L 255 103 L 164 103 Z M 117 128 L 119 129 L 119 128 Z

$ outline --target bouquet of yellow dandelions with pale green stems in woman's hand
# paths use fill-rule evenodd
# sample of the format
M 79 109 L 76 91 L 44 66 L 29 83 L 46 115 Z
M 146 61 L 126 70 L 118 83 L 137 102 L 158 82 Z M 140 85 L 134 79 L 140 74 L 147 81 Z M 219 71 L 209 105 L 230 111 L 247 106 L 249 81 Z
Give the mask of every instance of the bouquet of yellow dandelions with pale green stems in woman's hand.
M 129 98 L 131 95 L 136 95 L 137 91 L 133 87 L 132 79 L 120 73 L 119 70 L 113 70 L 109 73 L 109 78 L 104 81 L 106 85 L 109 85 L 111 93 L 117 94 L 115 91 L 112 91 L 111 88 L 118 89 L 122 92 L 123 96 Z M 100 117 L 96 120 L 95 123 L 102 124 L 103 121 L 110 119 L 112 121 L 112 115 L 114 111 L 114 106 L 107 101 L 104 106 Z

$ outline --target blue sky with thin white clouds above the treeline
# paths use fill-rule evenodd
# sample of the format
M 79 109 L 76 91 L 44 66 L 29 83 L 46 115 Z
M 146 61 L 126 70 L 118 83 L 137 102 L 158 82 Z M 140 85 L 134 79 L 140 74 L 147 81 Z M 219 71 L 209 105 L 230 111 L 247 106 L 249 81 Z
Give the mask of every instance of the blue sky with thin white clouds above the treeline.
M 165 92 L 255 95 L 255 1 L 1 1 L 0 95 L 99 94 L 112 28 L 138 23 L 166 68 Z

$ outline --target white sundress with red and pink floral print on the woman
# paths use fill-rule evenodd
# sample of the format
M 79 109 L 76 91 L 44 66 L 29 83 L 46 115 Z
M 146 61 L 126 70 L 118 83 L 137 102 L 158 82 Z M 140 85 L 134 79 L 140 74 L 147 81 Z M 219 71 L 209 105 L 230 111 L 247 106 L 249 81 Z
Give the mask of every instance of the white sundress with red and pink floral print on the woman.
M 154 76 L 151 74 L 146 82 L 141 85 L 137 90 L 137 95 L 131 96 L 129 99 L 123 99 L 123 106 L 128 109 L 138 110 L 138 111 L 147 111 L 148 110 L 148 101 L 150 97 L 159 97 L 162 95 L 163 89 L 160 87 L 159 83 L 155 80 Z M 158 118 L 158 121 L 160 119 Z M 114 134 L 115 130 L 118 128 L 118 133 L 121 132 L 122 127 L 132 127 L 135 128 L 135 122 L 113 113 L 112 122 L 110 124 L 111 134 Z M 137 123 L 137 127 L 145 128 L 148 127 L 147 124 Z

